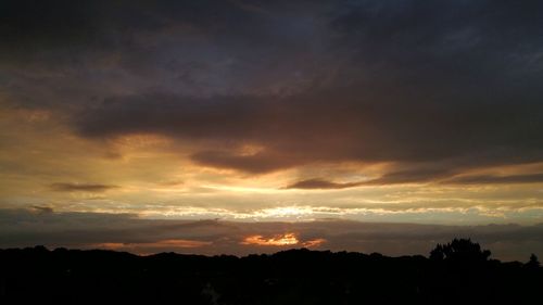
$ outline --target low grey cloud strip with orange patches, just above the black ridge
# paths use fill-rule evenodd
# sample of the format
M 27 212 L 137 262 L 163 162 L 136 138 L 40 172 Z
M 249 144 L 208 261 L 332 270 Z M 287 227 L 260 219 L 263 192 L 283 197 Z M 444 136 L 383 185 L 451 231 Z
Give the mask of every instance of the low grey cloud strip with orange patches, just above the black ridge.
M 380 252 L 386 255 L 428 255 L 437 243 L 471 238 L 500 259 L 526 260 L 543 252 L 543 226 L 438 226 L 379 224 L 348 220 L 308 223 L 230 223 L 219 220 L 150 220 L 136 215 L 47 213 L 0 209 L 0 247 L 42 244 L 49 247 L 112 247 L 153 253 L 176 251 L 200 254 L 270 253 L 301 247 L 320 239 L 316 249 Z M 263 239 L 295 233 L 299 244 L 258 246 L 243 244 L 247 237 Z

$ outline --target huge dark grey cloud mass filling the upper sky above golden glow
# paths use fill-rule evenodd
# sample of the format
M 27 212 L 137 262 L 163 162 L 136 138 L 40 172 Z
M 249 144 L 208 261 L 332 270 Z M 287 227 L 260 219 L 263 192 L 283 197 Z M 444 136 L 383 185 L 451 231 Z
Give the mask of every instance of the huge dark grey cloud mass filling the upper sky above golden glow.
M 84 63 L 78 84 L 100 60 L 143 76 L 63 109 L 86 138 L 189 139 L 193 162 L 250 174 L 402 165 L 374 183 L 543 161 L 541 1 L 2 5 L 2 63 Z

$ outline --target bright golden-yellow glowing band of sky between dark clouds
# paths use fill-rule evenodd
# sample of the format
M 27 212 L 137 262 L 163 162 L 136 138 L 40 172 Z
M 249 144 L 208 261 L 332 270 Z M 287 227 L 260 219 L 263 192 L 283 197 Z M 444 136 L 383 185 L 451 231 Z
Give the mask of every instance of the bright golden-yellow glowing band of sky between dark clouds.
M 1 98 L 1 97 L 0 97 Z M 439 224 L 541 223 L 543 190 L 538 179 L 506 183 L 507 176 L 534 175 L 543 163 L 473 168 L 455 176 L 470 183 L 367 186 L 341 190 L 285 190 L 292 181 L 325 177 L 361 181 L 401 170 L 393 163 L 311 164 L 248 176 L 191 162 L 197 143 L 153 134 L 130 134 L 100 142 L 81 139 L 47 110 L 2 107 L 0 207 L 48 206 L 55 213 L 128 213 L 150 219 L 308 221 L 340 218 L 362 221 Z M 15 132 L 16 131 L 16 132 Z M 70 142 L 70 145 L 64 143 Z M 237 153 L 257 154 L 242 145 Z M 497 177 L 498 185 L 493 185 Z M 515 180 L 513 180 L 515 182 Z M 77 183 L 75 183 L 77 182 Z M 97 193 L 99 186 L 106 192 Z M 73 191 L 59 191 L 72 189 Z M 87 190 L 87 191 L 84 191 Z M 269 238 L 263 233 L 266 240 Z M 300 240 L 300 246 L 305 240 Z M 161 241 L 162 245 L 167 241 Z M 177 242 L 178 247 L 189 247 Z M 160 244 L 119 246 L 162 246 Z M 114 244 L 104 245 L 114 247 Z M 175 247 L 175 245 L 171 245 Z

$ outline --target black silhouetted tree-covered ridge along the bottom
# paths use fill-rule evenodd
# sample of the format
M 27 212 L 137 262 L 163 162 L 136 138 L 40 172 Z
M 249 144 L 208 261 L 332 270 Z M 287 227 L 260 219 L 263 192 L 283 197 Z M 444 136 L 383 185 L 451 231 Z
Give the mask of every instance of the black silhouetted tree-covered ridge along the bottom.
M 0 250 L 0 304 L 539 304 L 543 268 L 469 240 L 424 256 L 319 252 L 201 256 Z

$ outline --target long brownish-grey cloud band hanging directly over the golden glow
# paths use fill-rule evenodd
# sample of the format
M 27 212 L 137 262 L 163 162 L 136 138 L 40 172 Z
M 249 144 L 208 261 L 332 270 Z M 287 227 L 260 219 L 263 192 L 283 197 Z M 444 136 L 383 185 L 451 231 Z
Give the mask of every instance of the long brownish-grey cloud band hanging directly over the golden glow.
M 541 161 L 542 104 L 434 104 L 387 94 L 358 97 L 345 88 L 277 99 L 148 94 L 108 100 L 74 124 L 90 138 L 156 132 L 212 141 L 224 149 L 212 145 L 192 160 L 253 174 L 319 162 L 393 161 L 416 168 L 390 173 L 381 182 L 408 182 L 472 166 Z M 237 152 L 245 143 L 262 150 Z

